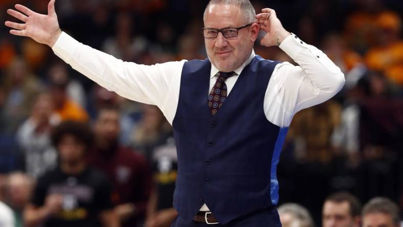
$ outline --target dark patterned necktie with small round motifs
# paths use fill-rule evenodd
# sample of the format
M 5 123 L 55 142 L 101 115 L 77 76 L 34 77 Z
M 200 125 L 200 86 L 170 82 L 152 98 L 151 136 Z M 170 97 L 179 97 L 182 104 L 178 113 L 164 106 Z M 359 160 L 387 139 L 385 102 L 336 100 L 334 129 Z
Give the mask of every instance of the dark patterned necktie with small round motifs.
M 212 116 L 217 114 L 218 109 L 221 108 L 222 104 L 227 100 L 227 84 L 225 81 L 234 74 L 234 72 L 218 72 L 217 81 L 209 94 L 209 109 Z

